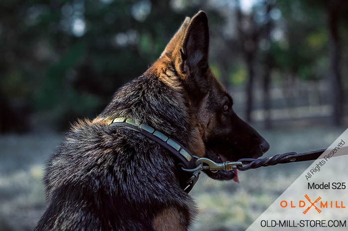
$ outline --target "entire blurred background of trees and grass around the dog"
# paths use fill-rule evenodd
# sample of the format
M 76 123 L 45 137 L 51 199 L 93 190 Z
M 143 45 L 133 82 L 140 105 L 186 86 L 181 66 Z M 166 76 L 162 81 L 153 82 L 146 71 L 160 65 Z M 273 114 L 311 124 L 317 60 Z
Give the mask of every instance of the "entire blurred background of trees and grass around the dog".
M 266 155 L 327 147 L 348 124 L 345 0 L 1 0 L 0 231 L 32 230 L 47 156 L 205 10 L 210 66 Z M 202 177 L 192 230 L 245 230 L 309 163 Z

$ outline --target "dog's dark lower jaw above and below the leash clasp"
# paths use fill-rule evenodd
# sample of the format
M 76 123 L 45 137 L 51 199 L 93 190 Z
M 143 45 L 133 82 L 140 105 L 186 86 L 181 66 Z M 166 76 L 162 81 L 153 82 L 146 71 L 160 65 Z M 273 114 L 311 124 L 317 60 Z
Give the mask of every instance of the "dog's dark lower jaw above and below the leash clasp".
M 213 152 L 212 150 L 208 150 L 206 152 L 205 157 L 211 159 L 212 161 L 216 163 L 222 163 L 224 161 L 227 161 L 227 159 L 223 157 L 221 154 Z M 229 161 L 235 161 L 235 159 L 231 159 L 231 160 L 229 159 Z M 239 183 L 238 171 L 235 169 L 232 171 L 219 170 L 215 173 L 210 170 L 204 170 L 204 173 L 207 174 L 210 178 L 215 180 L 233 180 Z

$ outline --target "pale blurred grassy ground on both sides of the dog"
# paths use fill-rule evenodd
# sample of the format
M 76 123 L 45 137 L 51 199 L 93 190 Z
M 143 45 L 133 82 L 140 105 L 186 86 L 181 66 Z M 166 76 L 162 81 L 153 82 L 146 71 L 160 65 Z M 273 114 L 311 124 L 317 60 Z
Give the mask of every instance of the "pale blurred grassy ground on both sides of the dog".
M 269 141 L 267 155 L 326 148 L 345 129 L 314 127 L 260 131 Z M 0 231 L 32 230 L 45 209 L 41 184 L 47 156 L 60 142 L 57 134 L 0 136 Z M 193 231 L 245 230 L 309 163 L 278 165 L 240 173 L 240 184 L 202 174 L 191 192 L 197 203 Z

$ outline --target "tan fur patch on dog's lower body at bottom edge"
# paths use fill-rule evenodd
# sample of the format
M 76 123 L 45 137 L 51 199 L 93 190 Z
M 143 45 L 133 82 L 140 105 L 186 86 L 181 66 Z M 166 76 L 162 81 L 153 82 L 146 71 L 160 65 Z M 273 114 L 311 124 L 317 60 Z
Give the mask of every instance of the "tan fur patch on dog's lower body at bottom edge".
M 185 231 L 185 218 L 174 207 L 164 209 L 153 221 L 157 231 Z

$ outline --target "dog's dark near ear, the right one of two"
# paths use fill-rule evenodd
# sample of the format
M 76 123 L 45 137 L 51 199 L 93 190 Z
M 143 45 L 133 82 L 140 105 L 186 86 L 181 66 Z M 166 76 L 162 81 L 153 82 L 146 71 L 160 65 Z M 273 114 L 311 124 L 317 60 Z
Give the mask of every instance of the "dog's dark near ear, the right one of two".
M 208 49 L 208 17 L 204 11 L 199 11 L 174 49 L 176 70 L 187 77 L 204 72 L 208 68 Z

